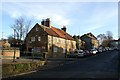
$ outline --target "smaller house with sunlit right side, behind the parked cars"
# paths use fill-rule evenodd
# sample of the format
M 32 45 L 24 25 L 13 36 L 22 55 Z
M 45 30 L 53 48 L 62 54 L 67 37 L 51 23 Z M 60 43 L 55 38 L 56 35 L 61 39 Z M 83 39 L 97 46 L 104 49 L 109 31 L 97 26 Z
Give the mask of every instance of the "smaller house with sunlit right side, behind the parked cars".
M 99 42 L 92 33 L 87 33 L 81 36 L 81 40 L 85 42 L 84 49 L 90 50 L 92 48 L 98 48 Z

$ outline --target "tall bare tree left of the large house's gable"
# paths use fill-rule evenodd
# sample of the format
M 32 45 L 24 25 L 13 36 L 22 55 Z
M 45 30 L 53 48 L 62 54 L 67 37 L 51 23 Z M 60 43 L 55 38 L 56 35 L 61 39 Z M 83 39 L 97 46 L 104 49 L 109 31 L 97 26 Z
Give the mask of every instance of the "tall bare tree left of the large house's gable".
M 12 25 L 12 29 L 15 30 L 17 39 L 21 40 L 27 35 L 31 26 L 31 20 L 25 20 L 23 17 L 15 19 L 15 23 Z

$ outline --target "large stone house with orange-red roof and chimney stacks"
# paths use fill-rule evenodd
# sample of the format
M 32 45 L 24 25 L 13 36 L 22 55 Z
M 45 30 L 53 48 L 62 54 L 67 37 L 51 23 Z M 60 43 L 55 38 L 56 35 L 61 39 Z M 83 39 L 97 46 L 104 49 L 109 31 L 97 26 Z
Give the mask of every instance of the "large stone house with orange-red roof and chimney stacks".
M 66 27 L 61 29 L 51 26 L 49 18 L 42 20 L 41 25 L 36 23 L 25 39 L 26 51 L 42 54 L 48 52 L 48 57 L 63 57 L 76 49 L 76 41 L 66 32 Z

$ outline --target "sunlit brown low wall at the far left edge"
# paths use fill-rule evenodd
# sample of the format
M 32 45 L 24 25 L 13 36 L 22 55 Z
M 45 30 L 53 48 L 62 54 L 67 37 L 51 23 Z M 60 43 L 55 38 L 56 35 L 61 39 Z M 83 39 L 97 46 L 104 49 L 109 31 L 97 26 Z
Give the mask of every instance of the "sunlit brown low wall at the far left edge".
M 20 50 L 2 50 L 2 58 L 3 59 L 13 59 L 15 52 L 15 58 L 20 57 Z

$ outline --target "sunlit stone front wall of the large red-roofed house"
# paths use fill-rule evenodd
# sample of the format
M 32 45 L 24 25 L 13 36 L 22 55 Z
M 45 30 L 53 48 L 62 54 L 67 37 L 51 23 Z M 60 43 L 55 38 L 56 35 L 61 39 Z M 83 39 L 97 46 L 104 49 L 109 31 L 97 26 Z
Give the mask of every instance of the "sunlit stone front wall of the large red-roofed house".
M 66 48 L 68 54 L 74 51 L 76 49 L 76 41 L 48 35 L 48 55 L 53 57 L 64 57 L 63 50 Z

